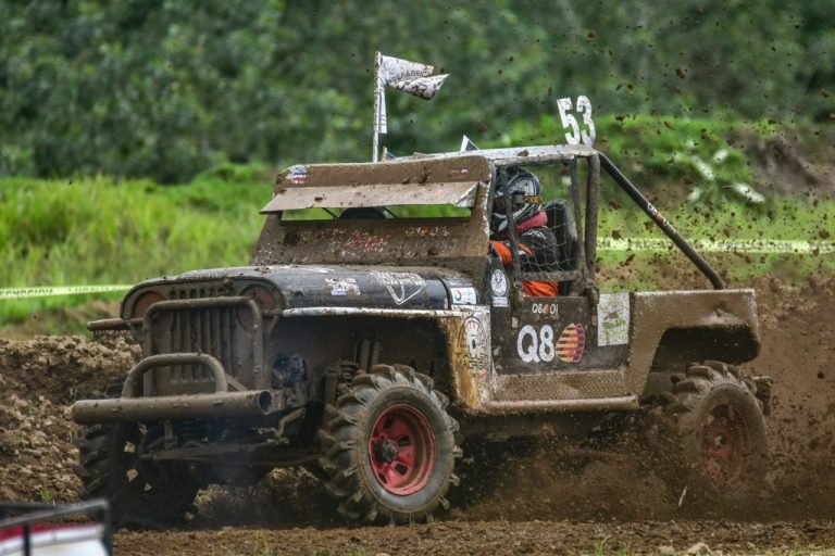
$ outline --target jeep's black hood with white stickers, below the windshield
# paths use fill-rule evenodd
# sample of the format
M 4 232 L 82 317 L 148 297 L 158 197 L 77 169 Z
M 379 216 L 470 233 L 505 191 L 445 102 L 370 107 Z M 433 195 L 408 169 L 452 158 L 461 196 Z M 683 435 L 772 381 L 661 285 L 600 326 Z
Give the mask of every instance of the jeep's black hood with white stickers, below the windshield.
M 246 266 L 195 270 L 148 280 L 123 303 L 123 315 L 149 290 L 164 299 L 240 295 L 264 286 L 277 293 L 282 308 L 367 307 L 447 309 L 478 303 L 472 280 L 437 267 L 391 266 Z

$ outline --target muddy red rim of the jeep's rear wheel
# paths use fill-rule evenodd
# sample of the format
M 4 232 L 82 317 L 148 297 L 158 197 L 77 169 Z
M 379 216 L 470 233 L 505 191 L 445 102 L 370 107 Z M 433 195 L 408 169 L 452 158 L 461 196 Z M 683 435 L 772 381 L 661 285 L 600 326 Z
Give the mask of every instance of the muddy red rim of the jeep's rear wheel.
M 750 433 L 744 417 L 732 405 L 713 408 L 702 428 L 705 470 L 718 486 L 733 482 L 745 468 Z

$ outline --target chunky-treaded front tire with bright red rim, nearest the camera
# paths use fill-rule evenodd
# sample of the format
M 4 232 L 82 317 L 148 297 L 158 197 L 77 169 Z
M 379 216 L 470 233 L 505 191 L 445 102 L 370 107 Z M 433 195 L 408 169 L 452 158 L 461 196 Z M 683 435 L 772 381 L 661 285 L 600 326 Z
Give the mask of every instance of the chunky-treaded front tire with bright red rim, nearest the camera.
M 354 523 L 432 520 L 458 484 L 458 421 L 431 378 L 404 365 L 375 365 L 353 378 L 319 432 L 325 489 Z

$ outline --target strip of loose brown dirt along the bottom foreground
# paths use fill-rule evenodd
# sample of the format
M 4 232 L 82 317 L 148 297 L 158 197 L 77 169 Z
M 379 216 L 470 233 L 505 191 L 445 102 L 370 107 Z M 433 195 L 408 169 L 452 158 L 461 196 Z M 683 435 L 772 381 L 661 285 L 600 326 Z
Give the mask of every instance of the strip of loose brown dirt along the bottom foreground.
M 116 554 L 762 554 L 825 549 L 835 545 L 832 522 L 734 523 L 716 521 L 445 521 L 365 529 L 289 529 L 165 533 L 123 532 Z M 209 548 L 211 547 L 211 548 Z M 267 552 L 267 548 L 270 547 Z

